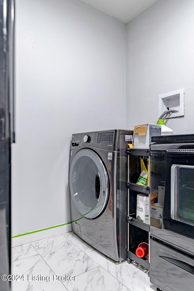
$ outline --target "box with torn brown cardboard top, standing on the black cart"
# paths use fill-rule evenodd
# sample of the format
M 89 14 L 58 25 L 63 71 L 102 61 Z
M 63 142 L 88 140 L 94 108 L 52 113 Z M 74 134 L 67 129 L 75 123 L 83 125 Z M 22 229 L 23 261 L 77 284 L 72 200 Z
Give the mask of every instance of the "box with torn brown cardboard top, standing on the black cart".
M 159 125 L 151 123 L 134 125 L 134 149 L 149 149 L 151 137 L 155 135 L 161 135 L 161 127 Z

